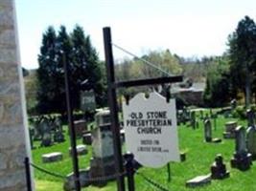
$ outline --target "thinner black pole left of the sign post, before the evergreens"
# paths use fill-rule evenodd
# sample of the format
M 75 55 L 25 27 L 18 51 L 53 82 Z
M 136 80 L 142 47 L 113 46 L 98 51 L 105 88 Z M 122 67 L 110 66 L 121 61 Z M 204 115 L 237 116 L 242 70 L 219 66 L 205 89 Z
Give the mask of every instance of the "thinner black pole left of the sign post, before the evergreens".
M 64 74 L 65 74 L 65 92 L 66 92 L 66 104 L 67 104 L 67 117 L 68 117 L 68 127 L 69 127 L 69 138 L 71 142 L 71 151 L 72 151 L 72 161 L 73 161 L 73 171 L 75 177 L 75 188 L 76 191 L 81 191 L 81 183 L 80 183 L 80 171 L 79 171 L 79 159 L 77 152 L 77 142 L 76 142 L 76 132 L 74 128 L 73 121 L 73 108 L 71 104 L 70 97 L 70 82 L 69 82 L 69 70 L 66 62 L 66 55 L 63 53 L 63 66 L 64 66 Z

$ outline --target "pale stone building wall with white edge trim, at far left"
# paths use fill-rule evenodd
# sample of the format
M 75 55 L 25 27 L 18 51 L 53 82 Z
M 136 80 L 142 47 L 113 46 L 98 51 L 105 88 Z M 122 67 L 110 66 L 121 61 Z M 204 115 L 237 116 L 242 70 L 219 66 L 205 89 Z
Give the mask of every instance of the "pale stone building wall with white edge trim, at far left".
M 31 157 L 31 146 L 18 50 L 14 1 L 1 0 L 0 190 L 3 191 L 28 190 L 24 159 Z

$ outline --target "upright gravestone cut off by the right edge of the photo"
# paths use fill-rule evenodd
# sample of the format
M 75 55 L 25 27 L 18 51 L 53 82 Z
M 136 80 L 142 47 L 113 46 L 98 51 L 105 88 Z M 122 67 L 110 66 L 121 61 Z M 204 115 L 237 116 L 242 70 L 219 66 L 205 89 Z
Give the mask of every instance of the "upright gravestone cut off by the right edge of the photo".
M 250 126 L 247 129 L 247 150 L 252 159 L 256 159 L 256 127 Z

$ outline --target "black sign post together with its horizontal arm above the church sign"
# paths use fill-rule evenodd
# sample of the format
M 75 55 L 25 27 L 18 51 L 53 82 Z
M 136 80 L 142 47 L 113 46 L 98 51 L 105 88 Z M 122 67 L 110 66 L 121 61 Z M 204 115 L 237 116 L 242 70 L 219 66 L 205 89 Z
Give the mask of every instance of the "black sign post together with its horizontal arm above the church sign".
M 109 103 L 110 118 L 111 118 L 111 131 L 113 134 L 114 158 L 115 158 L 116 171 L 118 173 L 117 185 L 118 185 L 118 191 L 125 191 L 124 164 L 123 164 L 122 146 L 121 146 L 121 139 L 120 139 L 120 128 L 119 128 L 119 122 L 118 122 L 116 89 L 128 88 L 128 87 L 134 87 L 134 86 L 146 86 L 146 85 L 153 85 L 153 84 L 180 82 L 180 81 L 182 81 L 183 76 L 176 75 L 176 76 L 168 76 L 168 77 L 148 78 L 148 79 L 138 79 L 138 80 L 115 82 L 114 61 L 113 61 L 113 53 L 112 53 L 112 42 L 111 42 L 110 28 L 105 27 L 103 31 L 104 31 L 104 43 L 105 43 L 105 65 L 106 65 L 106 74 L 107 74 L 107 94 L 108 94 L 108 103 Z M 158 143 L 156 143 L 156 141 L 155 141 L 155 144 L 158 145 Z M 159 149 L 156 149 L 156 151 L 157 150 L 159 152 Z M 169 151 L 167 148 L 163 149 L 163 151 L 164 151 L 164 153 L 169 153 L 169 152 L 167 152 L 167 151 Z M 173 157 L 174 157 L 174 159 L 175 158 L 177 159 L 177 157 L 175 157 L 175 155 Z M 160 159 L 160 160 L 162 160 L 162 159 Z M 129 162 L 129 163 L 132 163 L 132 162 Z M 130 169 L 130 167 L 128 167 L 128 169 Z M 131 169 L 132 169 L 132 167 L 131 167 Z M 130 173 L 130 176 L 128 176 L 128 177 L 131 178 L 132 176 L 133 176 L 133 173 Z M 130 191 L 134 190 L 133 184 L 134 184 L 134 181 L 132 179 L 129 179 L 128 189 Z

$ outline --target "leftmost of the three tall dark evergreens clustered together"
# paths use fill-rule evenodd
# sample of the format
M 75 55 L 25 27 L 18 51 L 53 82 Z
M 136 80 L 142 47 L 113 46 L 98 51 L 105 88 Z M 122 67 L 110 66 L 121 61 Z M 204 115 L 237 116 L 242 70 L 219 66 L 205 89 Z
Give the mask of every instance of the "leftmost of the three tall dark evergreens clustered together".
M 60 93 L 57 72 L 57 34 L 53 27 L 49 27 L 43 34 L 42 46 L 38 55 L 39 68 L 37 70 L 38 90 L 37 90 L 37 111 L 40 114 L 58 112 L 55 100 Z M 63 91 L 61 91 L 63 92 Z

